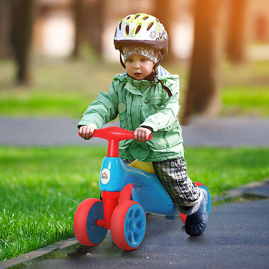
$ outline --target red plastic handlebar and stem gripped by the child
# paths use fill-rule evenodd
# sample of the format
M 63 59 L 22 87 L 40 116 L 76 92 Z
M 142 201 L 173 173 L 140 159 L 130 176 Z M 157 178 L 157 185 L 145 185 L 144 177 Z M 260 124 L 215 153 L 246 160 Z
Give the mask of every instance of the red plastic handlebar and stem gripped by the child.
M 102 129 L 95 129 L 92 137 L 99 137 L 109 141 L 107 146 L 107 157 L 119 157 L 119 142 L 127 139 L 134 139 L 134 132 L 120 127 L 106 127 Z M 148 140 L 151 139 L 151 134 Z

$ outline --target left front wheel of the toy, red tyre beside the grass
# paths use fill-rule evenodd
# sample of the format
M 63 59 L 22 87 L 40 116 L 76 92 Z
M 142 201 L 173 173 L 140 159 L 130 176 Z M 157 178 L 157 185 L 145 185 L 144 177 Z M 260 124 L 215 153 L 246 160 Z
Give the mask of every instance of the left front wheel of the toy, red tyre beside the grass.
M 84 246 L 100 244 L 107 229 L 97 226 L 97 220 L 103 219 L 103 202 L 97 198 L 82 201 L 75 213 L 74 232 L 77 240 Z

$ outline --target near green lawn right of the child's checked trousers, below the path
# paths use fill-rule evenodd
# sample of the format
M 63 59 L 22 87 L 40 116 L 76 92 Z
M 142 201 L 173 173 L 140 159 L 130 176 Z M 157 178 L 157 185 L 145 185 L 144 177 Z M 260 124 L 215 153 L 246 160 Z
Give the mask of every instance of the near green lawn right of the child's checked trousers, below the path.
M 212 195 L 269 176 L 269 148 L 193 148 L 185 151 L 188 175 Z

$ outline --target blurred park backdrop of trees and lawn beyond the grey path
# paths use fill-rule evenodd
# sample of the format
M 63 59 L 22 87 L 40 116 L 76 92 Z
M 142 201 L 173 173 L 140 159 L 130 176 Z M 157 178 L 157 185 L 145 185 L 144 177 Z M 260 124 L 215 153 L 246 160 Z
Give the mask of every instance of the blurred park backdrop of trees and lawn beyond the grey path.
M 79 118 L 123 73 L 113 37 L 128 14 L 169 34 L 179 118 L 269 116 L 267 0 L 0 0 L 0 116 Z

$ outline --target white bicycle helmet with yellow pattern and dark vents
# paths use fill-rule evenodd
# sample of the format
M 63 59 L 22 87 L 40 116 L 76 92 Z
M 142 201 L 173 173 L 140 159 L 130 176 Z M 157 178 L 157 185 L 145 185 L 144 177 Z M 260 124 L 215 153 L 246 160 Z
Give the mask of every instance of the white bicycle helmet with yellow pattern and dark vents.
M 131 14 L 122 19 L 116 28 L 114 45 L 121 51 L 123 46 L 148 46 L 167 55 L 168 34 L 157 18 L 144 13 Z

